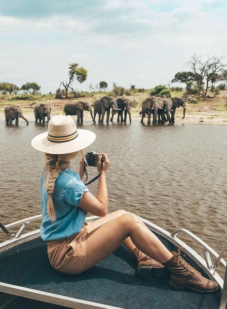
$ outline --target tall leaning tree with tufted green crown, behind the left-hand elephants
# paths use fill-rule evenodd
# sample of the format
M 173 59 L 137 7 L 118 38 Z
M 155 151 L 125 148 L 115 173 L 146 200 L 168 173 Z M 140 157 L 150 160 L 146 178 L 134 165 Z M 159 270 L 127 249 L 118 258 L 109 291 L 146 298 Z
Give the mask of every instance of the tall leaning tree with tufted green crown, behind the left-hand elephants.
M 75 77 L 76 80 L 81 84 L 87 79 L 87 70 L 84 69 L 83 67 L 78 67 L 78 63 L 71 63 L 69 65 L 69 82 L 61 82 L 59 89 L 61 88 L 61 85 L 65 88 L 65 97 L 68 96 L 68 90 L 69 88 L 73 90 L 74 94 L 76 92 L 74 91 L 72 82 L 74 81 Z

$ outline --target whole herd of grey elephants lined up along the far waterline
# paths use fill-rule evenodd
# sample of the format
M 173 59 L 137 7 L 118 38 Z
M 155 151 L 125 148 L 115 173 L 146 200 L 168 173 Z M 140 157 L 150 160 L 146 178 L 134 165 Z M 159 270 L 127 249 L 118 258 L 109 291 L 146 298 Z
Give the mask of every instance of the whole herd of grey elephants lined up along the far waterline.
M 129 98 L 113 98 L 110 96 L 103 96 L 94 101 L 92 104 L 94 108 L 94 116 L 91 106 L 86 101 L 76 101 L 66 103 L 63 109 L 63 113 L 66 115 L 76 115 L 77 123 L 83 123 L 83 112 L 89 111 L 92 121 L 95 122 L 96 114 L 98 113 L 99 123 L 104 122 L 104 116 L 107 113 L 106 122 L 109 123 L 110 112 L 112 109 L 112 116 L 110 121 L 113 122 L 114 115 L 117 113 L 117 122 L 126 123 L 127 114 L 129 115 L 129 122 L 131 123 L 131 105 L 135 102 L 134 99 Z M 151 114 L 153 115 L 152 123 L 163 123 L 169 121 L 174 123 L 174 116 L 176 108 L 182 106 L 184 108 L 183 119 L 185 118 L 186 104 L 181 98 L 173 97 L 167 99 L 161 96 L 150 96 L 142 102 L 142 115 L 141 123 L 143 123 L 144 117 L 148 115 L 148 124 L 151 123 Z M 5 123 L 12 124 L 13 120 L 16 120 L 16 125 L 19 123 L 19 117 L 24 119 L 28 125 L 28 120 L 23 116 L 22 110 L 18 105 L 7 105 L 4 109 Z M 51 107 L 49 104 L 37 104 L 34 107 L 34 115 L 36 123 L 46 123 L 50 120 Z M 124 114 L 124 115 L 123 115 Z M 170 117 L 171 115 L 171 117 Z M 123 117 L 124 116 L 124 117 Z

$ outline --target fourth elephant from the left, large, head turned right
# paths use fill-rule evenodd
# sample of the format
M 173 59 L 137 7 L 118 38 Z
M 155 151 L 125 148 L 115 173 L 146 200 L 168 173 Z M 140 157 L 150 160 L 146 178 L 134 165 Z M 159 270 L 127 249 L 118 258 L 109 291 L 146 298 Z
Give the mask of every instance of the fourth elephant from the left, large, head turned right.
M 105 113 L 107 112 L 107 124 L 109 123 L 111 107 L 113 108 L 113 114 L 118 111 L 116 100 L 111 96 L 103 96 L 94 102 L 94 120 L 95 116 L 99 114 L 99 122 L 103 123 Z M 102 114 L 102 118 L 101 118 Z

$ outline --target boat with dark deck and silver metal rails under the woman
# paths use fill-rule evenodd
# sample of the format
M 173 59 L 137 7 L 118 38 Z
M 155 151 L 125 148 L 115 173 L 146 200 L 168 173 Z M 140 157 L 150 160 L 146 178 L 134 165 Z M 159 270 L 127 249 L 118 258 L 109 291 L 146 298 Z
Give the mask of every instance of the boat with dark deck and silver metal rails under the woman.
M 98 218 L 87 217 L 86 221 Z M 219 284 L 216 292 L 198 293 L 171 287 L 167 272 L 140 277 L 132 254 L 124 246 L 80 275 L 60 273 L 49 264 L 39 229 L 31 227 L 40 220 L 38 215 L 1 226 L 0 232 L 9 239 L 0 243 L 0 309 L 226 309 L 227 264 L 223 254 L 227 243 L 218 254 L 187 229 L 170 233 L 141 218 L 170 251 L 183 247 L 184 259 Z M 28 226 L 30 230 L 25 231 Z M 10 230 L 15 227 L 18 231 L 13 234 Z M 199 245 L 201 255 L 183 242 L 180 234 Z M 218 265 L 225 269 L 224 280 L 217 272 Z

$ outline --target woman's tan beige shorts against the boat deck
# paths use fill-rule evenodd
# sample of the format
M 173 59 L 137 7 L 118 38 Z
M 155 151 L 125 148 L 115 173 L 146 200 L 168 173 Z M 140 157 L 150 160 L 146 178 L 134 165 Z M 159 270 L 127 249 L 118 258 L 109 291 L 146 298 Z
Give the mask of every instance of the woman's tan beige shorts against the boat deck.
M 83 271 L 87 250 L 88 225 L 84 222 L 81 230 L 70 237 L 47 242 L 47 254 L 51 266 L 68 274 Z

